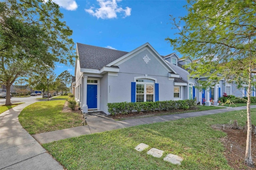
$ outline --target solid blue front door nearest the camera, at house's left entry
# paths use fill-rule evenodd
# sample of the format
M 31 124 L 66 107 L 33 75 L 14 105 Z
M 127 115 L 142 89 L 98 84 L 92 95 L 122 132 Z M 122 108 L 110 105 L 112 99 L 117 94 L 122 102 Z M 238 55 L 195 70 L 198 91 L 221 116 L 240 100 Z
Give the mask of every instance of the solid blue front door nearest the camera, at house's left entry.
M 97 108 L 97 86 L 98 85 L 87 85 L 88 109 L 96 109 Z

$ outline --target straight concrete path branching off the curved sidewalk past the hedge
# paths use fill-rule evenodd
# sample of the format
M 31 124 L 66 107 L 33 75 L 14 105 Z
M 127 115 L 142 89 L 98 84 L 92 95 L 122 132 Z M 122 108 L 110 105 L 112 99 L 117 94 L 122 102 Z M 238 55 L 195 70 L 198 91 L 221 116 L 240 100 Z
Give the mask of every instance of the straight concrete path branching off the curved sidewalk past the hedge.
M 256 105 L 251 106 L 251 108 L 256 108 Z M 203 115 L 212 115 L 217 113 L 224 113 L 228 111 L 237 111 L 246 109 L 246 107 L 228 107 L 224 109 L 215 109 L 209 111 L 191 112 L 191 113 L 180 113 L 175 115 L 163 115 L 154 117 L 143 117 L 139 119 L 127 119 L 123 121 L 114 121 L 108 115 L 100 112 L 87 113 L 87 123 L 88 125 L 81 127 L 74 127 L 62 130 L 56 130 L 52 132 L 45 132 L 39 134 L 33 134 L 32 136 L 40 143 L 49 143 L 61 139 L 77 137 L 84 134 L 92 134 L 97 132 L 104 132 L 108 130 L 114 130 L 118 128 L 126 128 L 137 125 L 173 121 L 177 119 L 183 119 L 188 117 L 197 117 Z

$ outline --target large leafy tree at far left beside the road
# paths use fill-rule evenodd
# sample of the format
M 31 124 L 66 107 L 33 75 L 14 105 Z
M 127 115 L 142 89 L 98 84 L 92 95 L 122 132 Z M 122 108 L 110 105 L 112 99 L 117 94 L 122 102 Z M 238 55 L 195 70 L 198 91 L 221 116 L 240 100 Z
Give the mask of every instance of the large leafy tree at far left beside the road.
M 62 21 L 59 6 L 49 0 L 0 2 L 0 83 L 10 91 L 18 77 L 72 64 L 72 30 Z M 6 105 L 11 105 L 7 93 Z

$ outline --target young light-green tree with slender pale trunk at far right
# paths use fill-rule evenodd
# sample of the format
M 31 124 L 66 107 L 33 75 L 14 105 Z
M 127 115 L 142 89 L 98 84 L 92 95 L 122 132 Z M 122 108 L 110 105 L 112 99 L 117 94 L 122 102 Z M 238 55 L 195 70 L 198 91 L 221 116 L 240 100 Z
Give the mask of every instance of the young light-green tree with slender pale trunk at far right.
M 171 17 L 178 37 L 166 40 L 180 53 L 198 59 L 191 74 L 209 77 L 204 87 L 223 78 L 248 87 L 245 163 L 253 167 L 250 94 L 256 73 L 256 1 L 188 0 L 186 8 L 188 14 L 180 22 Z

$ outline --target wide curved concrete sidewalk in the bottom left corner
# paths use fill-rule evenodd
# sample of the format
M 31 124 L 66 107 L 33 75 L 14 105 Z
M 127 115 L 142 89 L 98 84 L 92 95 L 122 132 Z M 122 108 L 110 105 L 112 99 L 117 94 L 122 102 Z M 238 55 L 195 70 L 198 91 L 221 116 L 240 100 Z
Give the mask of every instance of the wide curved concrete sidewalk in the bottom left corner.
M 0 115 L 0 170 L 63 170 L 18 121 L 22 109 L 32 103 L 26 102 Z

